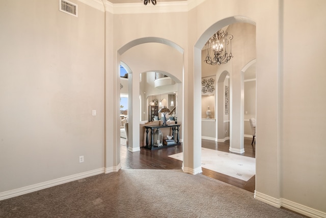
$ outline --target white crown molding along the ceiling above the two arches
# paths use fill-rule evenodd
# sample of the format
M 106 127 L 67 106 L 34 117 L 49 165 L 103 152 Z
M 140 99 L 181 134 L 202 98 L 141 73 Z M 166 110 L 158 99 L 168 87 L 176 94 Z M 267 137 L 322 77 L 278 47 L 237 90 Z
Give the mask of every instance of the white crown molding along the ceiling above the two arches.
M 149 14 L 149 13 L 173 13 L 188 12 L 202 4 L 206 0 L 187 0 L 182 2 L 158 2 L 157 5 L 143 3 L 112 4 L 106 0 L 78 0 L 92 8 L 112 14 Z M 104 3 L 104 4 L 103 4 Z M 105 5 L 105 10 L 104 10 Z

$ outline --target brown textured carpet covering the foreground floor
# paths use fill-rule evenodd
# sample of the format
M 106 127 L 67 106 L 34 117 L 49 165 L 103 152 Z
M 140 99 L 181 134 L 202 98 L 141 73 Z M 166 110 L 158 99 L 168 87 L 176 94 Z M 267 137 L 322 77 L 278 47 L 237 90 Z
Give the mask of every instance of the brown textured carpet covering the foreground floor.
M 120 170 L 0 201 L 0 217 L 301 217 L 180 170 Z

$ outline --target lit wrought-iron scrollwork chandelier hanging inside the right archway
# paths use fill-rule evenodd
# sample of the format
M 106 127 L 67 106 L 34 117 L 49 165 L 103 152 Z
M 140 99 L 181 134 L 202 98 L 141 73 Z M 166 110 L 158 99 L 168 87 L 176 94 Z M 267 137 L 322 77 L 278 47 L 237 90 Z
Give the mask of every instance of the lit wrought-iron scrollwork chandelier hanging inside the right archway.
M 206 42 L 206 58 L 207 64 L 226 64 L 230 61 L 232 56 L 232 39 L 233 36 L 228 32 L 216 32 Z M 230 53 L 228 51 L 230 50 Z

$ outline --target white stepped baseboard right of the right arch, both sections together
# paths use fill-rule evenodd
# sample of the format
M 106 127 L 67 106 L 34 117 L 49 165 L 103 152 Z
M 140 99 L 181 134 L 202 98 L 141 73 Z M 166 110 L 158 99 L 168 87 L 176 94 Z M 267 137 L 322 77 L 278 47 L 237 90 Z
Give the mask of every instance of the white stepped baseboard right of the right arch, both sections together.
M 309 217 L 316 217 L 316 218 L 317 217 L 326 217 L 326 212 L 322 212 L 320 210 L 316 210 L 311 207 L 307 207 L 305 205 L 298 204 L 298 203 L 289 201 L 284 198 L 281 198 L 281 199 L 273 198 L 268 195 L 258 193 L 258 192 L 256 192 L 256 190 L 255 190 L 254 198 L 259 201 L 262 201 L 266 204 L 269 204 L 271 206 L 278 207 L 278 208 L 285 207 L 287 209 L 290 209 L 292 211 L 301 213 L 301 214 L 309 216 Z

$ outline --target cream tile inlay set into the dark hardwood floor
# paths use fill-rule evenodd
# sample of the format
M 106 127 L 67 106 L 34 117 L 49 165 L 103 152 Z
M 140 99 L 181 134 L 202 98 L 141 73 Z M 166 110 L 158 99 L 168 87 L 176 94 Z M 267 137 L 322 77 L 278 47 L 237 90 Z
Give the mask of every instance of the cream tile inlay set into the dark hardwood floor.
M 169 157 L 183 160 L 183 152 Z M 256 160 L 252 157 L 202 148 L 202 167 L 243 181 L 255 175 Z

